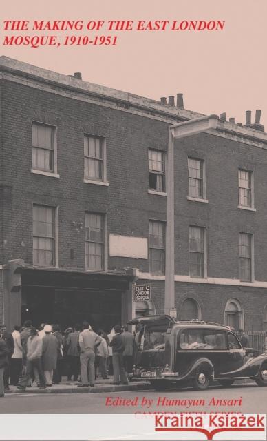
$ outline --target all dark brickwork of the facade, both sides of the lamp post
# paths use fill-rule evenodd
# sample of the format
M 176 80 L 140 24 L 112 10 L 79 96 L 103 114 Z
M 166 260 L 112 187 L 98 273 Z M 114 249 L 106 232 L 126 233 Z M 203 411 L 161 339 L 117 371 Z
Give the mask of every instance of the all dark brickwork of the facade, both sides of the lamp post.
M 85 267 L 85 210 L 106 213 L 108 232 L 125 236 L 148 237 L 149 218 L 165 220 L 166 197 L 147 192 L 147 149 L 167 150 L 167 123 L 6 80 L 1 89 L 1 263 L 13 258 L 32 263 L 32 203 L 58 207 L 60 267 Z M 32 120 L 57 127 L 59 179 L 30 173 Z M 107 140 L 109 187 L 83 183 L 84 133 Z M 209 134 L 175 142 L 175 274 L 189 274 L 188 228 L 199 225 L 207 229 L 209 277 L 238 279 L 238 232 L 248 232 L 255 238 L 255 279 L 267 280 L 266 155 L 266 150 Z M 188 156 L 206 161 L 209 203 L 186 198 Z M 256 212 L 237 208 L 239 167 L 254 171 Z M 109 257 L 110 270 L 125 267 L 149 271 L 147 260 Z M 164 283 L 153 286 L 156 311 L 163 312 Z M 195 283 L 176 283 L 175 289 L 178 307 L 182 296 L 197 295 L 203 314 L 210 311 L 220 322 L 228 298 L 246 305 L 246 320 L 255 326 L 267 303 L 267 289 Z

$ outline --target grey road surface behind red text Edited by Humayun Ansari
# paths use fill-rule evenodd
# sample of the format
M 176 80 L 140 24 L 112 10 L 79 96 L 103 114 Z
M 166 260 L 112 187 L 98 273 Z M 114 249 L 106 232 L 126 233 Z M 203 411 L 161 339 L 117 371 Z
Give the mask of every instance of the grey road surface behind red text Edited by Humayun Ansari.
M 146 412 L 267 413 L 267 388 L 255 384 L 233 385 L 206 391 L 192 389 L 6 395 L 0 413 L 146 413 Z

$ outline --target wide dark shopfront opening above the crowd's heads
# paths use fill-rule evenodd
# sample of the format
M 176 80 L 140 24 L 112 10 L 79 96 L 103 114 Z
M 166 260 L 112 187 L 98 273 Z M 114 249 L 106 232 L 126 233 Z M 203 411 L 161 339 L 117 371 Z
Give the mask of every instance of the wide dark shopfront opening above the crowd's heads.
M 61 329 L 87 320 L 94 330 L 110 331 L 121 320 L 121 292 L 23 287 L 22 322 L 58 323 Z

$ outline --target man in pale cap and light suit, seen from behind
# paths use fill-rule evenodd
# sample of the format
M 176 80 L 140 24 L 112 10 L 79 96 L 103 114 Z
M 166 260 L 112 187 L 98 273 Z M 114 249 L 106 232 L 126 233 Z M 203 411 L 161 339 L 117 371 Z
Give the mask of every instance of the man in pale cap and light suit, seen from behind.
M 47 386 L 52 386 L 53 371 L 56 369 L 58 340 L 51 334 L 52 326 L 45 325 L 43 328 L 45 336 L 43 337 L 43 371 L 45 373 L 45 381 Z

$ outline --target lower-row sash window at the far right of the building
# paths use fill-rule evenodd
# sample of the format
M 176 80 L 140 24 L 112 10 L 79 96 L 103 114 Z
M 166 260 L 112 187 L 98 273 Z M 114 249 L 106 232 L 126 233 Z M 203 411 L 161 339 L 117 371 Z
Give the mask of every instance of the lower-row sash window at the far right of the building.
M 239 279 L 252 280 L 252 234 L 239 233 Z

